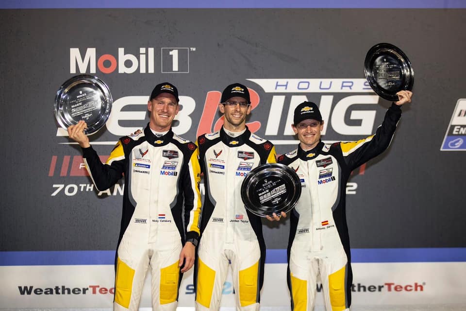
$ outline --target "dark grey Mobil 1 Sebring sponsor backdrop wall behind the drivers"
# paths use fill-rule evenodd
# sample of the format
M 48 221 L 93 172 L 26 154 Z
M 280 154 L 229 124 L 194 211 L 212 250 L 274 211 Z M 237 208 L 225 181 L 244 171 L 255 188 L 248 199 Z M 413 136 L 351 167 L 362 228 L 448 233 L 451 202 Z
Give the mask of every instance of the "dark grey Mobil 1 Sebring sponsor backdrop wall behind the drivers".
M 380 42 L 410 58 L 415 95 L 389 149 L 348 184 L 353 304 L 466 303 L 462 2 L 407 1 L 405 9 L 397 1 L 362 8 L 338 1 L 144 8 L 152 4 L 135 1 L 139 9 L 42 2 L 2 1 L 0 10 L 0 307 L 111 307 L 124 184 L 97 191 L 80 148 L 55 121 L 54 96 L 65 80 L 87 73 L 110 87 L 110 119 L 90 137 L 102 159 L 120 136 L 146 125 L 150 91 L 165 81 L 181 95 L 173 129 L 191 140 L 221 125 L 219 92 L 245 84 L 257 94 L 250 129 L 283 154 L 296 147 L 292 111 L 304 100 L 320 106 L 326 141 L 375 132 L 390 103 L 367 85 L 363 64 Z M 289 222 L 264 230 L 263 305 L 288 307 Z M 180 292 L 180 306 L 192 307 L 192 273 Z M 229 278 L 223 306 L 233 305 Z M 141 307 L 149 306 L 146 288 Z

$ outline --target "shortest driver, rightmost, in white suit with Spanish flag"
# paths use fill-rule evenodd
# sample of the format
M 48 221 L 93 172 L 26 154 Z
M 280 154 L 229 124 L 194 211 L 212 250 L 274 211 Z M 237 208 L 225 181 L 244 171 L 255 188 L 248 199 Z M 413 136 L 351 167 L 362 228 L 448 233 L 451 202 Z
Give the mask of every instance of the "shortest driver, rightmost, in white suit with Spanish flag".
M 300 176 L 302 192 L 290 213 L 287 281 L 293 311 L 312 311 L 320 275 L 327 311 L 350 310 L 351 260 L 345 190 L 352 170 L 380 155 L 395 133 L 400 106 L 411 91 L 397 93 L 375 135 L 352 142 L 324 144 L 324 121 L 316 104 L 304 102 L 294 111 L 293 131 L 300 144 L 278 162 Z

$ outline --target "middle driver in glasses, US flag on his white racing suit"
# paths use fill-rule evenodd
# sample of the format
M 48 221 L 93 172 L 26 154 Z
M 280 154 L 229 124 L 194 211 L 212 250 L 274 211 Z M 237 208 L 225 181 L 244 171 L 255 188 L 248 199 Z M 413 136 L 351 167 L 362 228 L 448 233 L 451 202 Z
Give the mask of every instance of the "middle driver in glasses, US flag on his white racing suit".
M 246 86 L 227 86 L 220 102 L 223 127 L 198 138 L 205 196 L 194 270 L 196 310 L 219 309 L 230 264 L 237 310 L 259 310 L 266 251 L 262 222 L 245 209 L 240 190 L 253 168 L 275 163 L 275 147 L 246 126 L 251 111 Z

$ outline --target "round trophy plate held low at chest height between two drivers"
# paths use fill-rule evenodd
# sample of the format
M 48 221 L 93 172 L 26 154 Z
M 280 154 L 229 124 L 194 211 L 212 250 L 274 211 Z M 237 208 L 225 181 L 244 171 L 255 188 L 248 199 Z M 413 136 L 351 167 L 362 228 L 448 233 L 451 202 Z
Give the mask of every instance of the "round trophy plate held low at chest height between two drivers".
M 289 212 L 298 203 L 300 195 L 300 177 L 295 170 L 279 163 L 254 168 L 241 185 L 244 206 L 261 217 Z

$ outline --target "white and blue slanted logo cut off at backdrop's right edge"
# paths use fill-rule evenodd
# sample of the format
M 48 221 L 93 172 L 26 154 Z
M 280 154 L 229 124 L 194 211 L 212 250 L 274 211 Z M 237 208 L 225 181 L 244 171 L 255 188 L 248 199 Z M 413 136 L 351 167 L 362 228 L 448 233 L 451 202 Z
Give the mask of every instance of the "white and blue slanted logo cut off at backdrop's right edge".
M 456 102 L 453 115 L 443 138 L 441 151 L 465 151 L 466 150 L 466 99 Z

